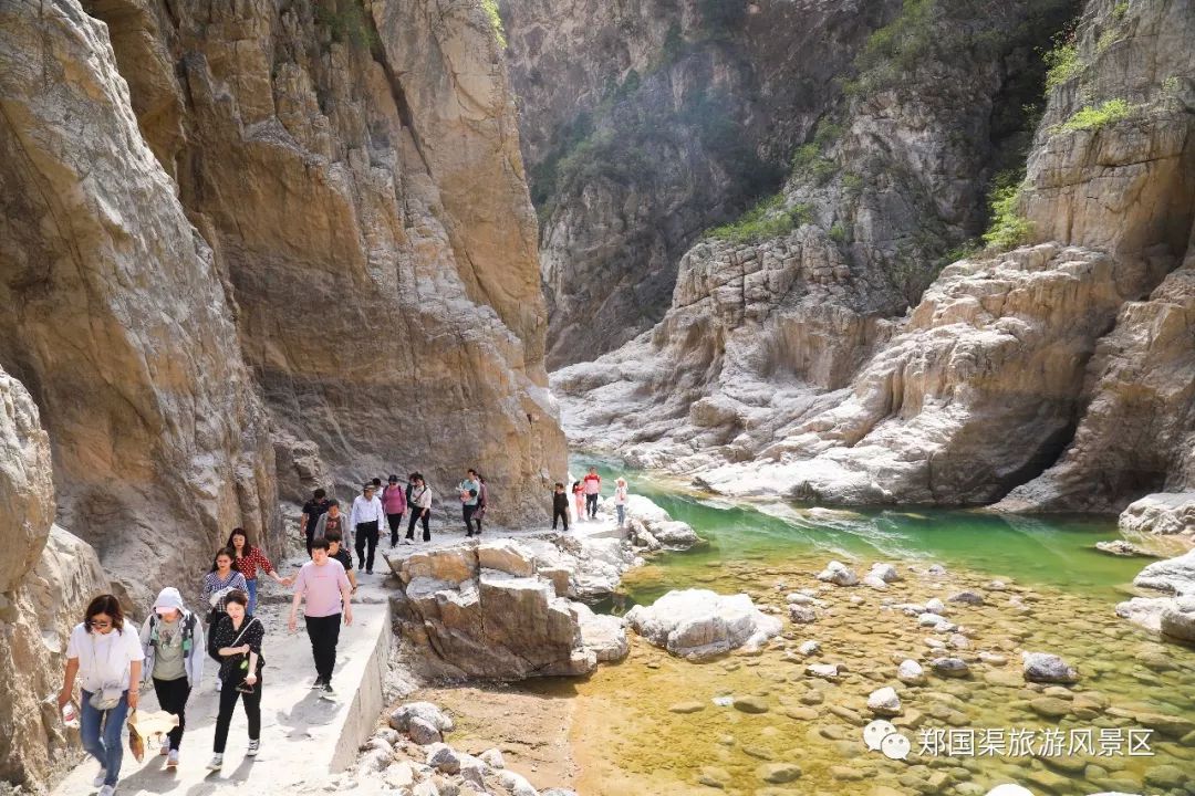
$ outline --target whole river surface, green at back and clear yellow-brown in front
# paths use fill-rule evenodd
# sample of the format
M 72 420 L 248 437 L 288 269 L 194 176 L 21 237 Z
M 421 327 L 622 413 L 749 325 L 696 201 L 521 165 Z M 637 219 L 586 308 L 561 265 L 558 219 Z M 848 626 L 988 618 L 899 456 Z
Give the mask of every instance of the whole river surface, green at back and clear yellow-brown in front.
M 575 459 L 574 473 L 588 464 Z M 754 656 L 692 664 L 632 637 L 626 661 L 602 666 L 575 685 L 571 742 L 581 794 L 967 796 L 1001 782 L 1060 796 L 1101 790 L 1195 794 L 1195 652 L 1159 643 L 1113 613 L 1145 563 L 1093 550 L 1095 542 L 1117 537 L 1113 519 L 734 506 L 598 464 L 603 485 L 625 475 L 632 492 L 651 498 L 709 541 L 627 573 L 623 594 L 607 610 L 621 612 L 684 587 L 743 591 L 756 605 L 777 611 L 785 609 L 786 593 L 820 588 L 827 607 L 814 624 L 785 623 L 777 644 Z M 889 592 L 825 586 L 814 575 L 831 559 L 854 566 L 860 575 L 872 561 L 888 561 L 905 579 Z M 948 575 L 929 575 L 930 563 L 943 564 Z M 995 579 L 1007 581 L 1007 590 L 992 587 Z M 884 605 L 945 599 L 962 588 L 988 600 L 985 606 L 950 606 L 949 618 L 967 638 L 934 634 Z M 822 644 L 822 653 L 805 660 L 795 650 L 810 638 Z M 934 652 L 926 638 L 967 648 Z M 1025 684 L 1023 649 L 1061 654 L 1079 668 L 1081 680 L 1048 691 Z M 980 662 L 981 650 L 1007 662 Z M 972 675 L 930 673 L 929 660 L 939 655 L 968 660 Z M 896 664 L 905 658 L 926 666 L 926 685 L 896 680 Z M 805 672 L 813 662 L 838 662 L 847 673 L 833 683 L 820 680 Z M 912 742 L 908 760 L 890 760 L 862 741 L 862 726 L 875 718 L 868 695 L 887 685 L 901 696 L 903 716 L 893 721 Z M 766 712 L 712 702 L 748 695 L 759 697 Z M 669 710 L 680 703 L 699 709 Z M 967 754 L 966 747 L 954 757 L 923 749 L 939 729 L 958 743 L 966 743 L 967 734 L 976 742 L 998 739 L 1000 730 L 1006 739 L 1032 733 L 1038 754 L 1012 754 L 1007 746 L 987 755 Z M 1145 739 L 1150 755 L 1128 754 L 1129 730 Z M 1041 748 L 1060 738 L 1080 748 L 1072 754 Z M 1081 748 L 1087 738 L 1096 747 L 1091 753 Z M 1116 752 L 1099 754 L 1101 738 L 1107 752 L 1120 739 Z M 784 763 L 798 766 L 801 776 L 767 782 L 766 766 Z

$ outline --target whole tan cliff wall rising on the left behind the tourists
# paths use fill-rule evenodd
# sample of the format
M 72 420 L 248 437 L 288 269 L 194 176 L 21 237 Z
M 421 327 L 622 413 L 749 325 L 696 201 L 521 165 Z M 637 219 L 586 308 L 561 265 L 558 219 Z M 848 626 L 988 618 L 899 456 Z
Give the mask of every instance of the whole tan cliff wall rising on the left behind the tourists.
M 131 597 L 233 525 L 276 548 L 278 469 L 296 500 L 476 465 L 500 522 L 544 512 L 535 221 L 479 5 L 0 13 L 0 362 Z

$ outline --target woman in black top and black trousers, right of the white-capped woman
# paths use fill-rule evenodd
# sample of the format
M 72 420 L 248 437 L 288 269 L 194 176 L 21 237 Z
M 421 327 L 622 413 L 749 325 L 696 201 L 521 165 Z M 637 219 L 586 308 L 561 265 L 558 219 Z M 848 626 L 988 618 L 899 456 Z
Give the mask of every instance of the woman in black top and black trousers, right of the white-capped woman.
M 249 594 L 232 591 L 225 599 L 225 616 L 214 625 L 208 637 L 208 654 L 220 662 L 220 714 L 216 716 L 214 755 L 208 769 L 223 766 L 223 749 L 228 741 L 228 724 L 237 706 L 237 697 L 245 703 L 249 717 L 249 757 L 257 754 L 262 734 L 262 640 L 265 627 L 257 617 L 247 615 Z

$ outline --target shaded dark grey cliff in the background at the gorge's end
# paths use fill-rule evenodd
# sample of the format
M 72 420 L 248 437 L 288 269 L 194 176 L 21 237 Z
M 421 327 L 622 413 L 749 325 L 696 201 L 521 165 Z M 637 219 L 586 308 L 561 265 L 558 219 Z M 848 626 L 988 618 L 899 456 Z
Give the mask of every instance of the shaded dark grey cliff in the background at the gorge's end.
M 660 320 L 685 251 L 786 173 L 789 205 L 878 277 L 870 304 L 902 311 L 982 227 L 985 185 L 1027 137 L 1032 49 L 1074 7 L 503 2 L 550 366 Z

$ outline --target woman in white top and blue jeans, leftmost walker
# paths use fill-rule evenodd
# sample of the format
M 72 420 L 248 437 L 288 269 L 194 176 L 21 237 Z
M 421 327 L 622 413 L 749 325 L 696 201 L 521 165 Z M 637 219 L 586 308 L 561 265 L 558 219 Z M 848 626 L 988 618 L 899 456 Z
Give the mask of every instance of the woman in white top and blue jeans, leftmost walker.
M 137 709 L 143 659 L 136 629 L 124 627 L 120 600 L 112 594 L 93 599 L 84 621 L 71 631 L 59 708 L 71 702 L 78 677 L 82 696 L 79 733 L 82 747 L 99 760 L 99 775 L 92 783 L 99 796 L 112 796 L 121 776 L 121 733 L 129 711 Z

